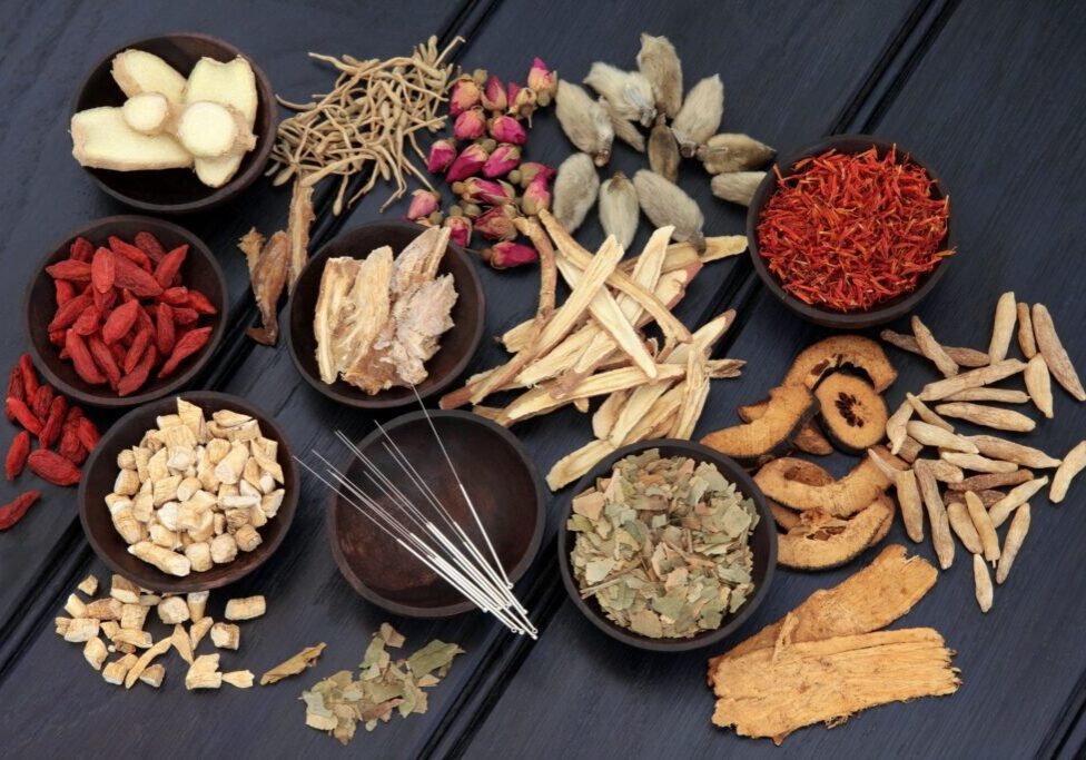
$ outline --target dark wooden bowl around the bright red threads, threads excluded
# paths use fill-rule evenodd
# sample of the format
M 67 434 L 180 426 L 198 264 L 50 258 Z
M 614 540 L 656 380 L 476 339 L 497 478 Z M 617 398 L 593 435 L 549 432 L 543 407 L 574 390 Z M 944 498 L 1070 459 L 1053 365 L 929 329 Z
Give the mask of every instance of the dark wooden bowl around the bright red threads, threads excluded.
M 871 135 L 835 135 L 816 142 L 812 146 L 793 151 L 788 156 L 779 157 L 776 166 L 780 170 L 781 176 L 788 177 L 793 174 L 792 167 L 794 166 L 796 161 L 809 156 L 819 156 L 830 149 L 843 154 L 859 154 L 873 146 L 878 150 L 879 156 L 885 156 L 895 145 L 896 144 L 892 140 L 886 140 Z M 904 149 L 900 144 L 897 145 L 899 155 L 908 155 L 910 161 L 924 167 L 925 171 L 928 172 L 928 176 L 935 180 L 935 185 L 932 186 L 935 197 L 945 198 L 947 196 L 946 189 L 928 165 L 920 161 L 916 155 Z M 911 293 L 906 293 L 897 296 L 896 298 L 885 300 L 863 312 L 835 312 L 833 309 L 826 308 L 823 306 L 806 304 L 781 287 L 780 280 L 777 279 L 777 276 L 769 270 L 769 267 L 766 265 L 766 260 L 758 253 L 759 217 L 761 216 L 762 209 L 766 207 L 767 201 L 769 201 L 770 196 L 772 196 L 776 191 L 777 176 L 773 169 L 770 168 L 769 171 L 766 172 L 766 178 L 762 180 L 762 184 L 758 186 L 758 190 L 754 193 L 754 197 L 751 200 L 750 207 L 747 211 L 747 239 L 750 250 L 750 259 L 754 265 L 754 272 L 758 273 L 758 276 L 761 278 L 766 287 L 769 288 L 769 292 L 772 293 L 778 300 L 784 304 L 786 307 L 800 315 L 808 322 L 812 322 L 816 325 L 821 325 L 823 327 L 833 327 L 836 329 L 862 329 L 865 327 L 873 327 L 875 325 L 892 322 L 898 317 L 911 314 L 914 309 L 916 309 L 917 304 L 919 304 L 929 293 L 931 293 L 935 286 L 942 278 L 942 275 L 946 274 L 948 261 L 944 260 L 938 264 L 935 269 L 922 276 L 917 284 L 916 289 L 914 289 Z M 947 219 L 947 235 L 942 240 L 944 249 L 955 247 L 954 233 L 954 216 L 951 215 L 950 218 Z

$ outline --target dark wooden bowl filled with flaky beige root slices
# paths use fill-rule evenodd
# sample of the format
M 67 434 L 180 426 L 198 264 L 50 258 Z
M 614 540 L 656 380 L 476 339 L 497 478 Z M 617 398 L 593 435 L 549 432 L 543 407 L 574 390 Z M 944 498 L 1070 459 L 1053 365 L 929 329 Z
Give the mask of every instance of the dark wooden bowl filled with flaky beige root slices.
M 313 256 L 290 294 L 287 346 L 314 388 L 387 409 L 447 388 L 483 338 L 475 264 L 448 229 L 379 221 Z

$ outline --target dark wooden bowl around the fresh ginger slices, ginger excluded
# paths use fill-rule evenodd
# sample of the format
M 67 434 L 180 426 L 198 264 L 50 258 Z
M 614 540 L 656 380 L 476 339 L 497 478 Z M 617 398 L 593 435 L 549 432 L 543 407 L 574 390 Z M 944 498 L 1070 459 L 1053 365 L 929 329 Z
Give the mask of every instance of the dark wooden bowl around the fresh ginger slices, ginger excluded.
M 264 172 L 264 165 L 275 146 L 278 111 L 275 92 L 267 76 L 251 58 L 229 42 L 215 37 L 191 32 L 151 37 L 110 50 L 79 87 L 72 100 L 72 113 L 99 106 L 124 105 L 127 98 L 113 81 L 110 68 L 113 56 L 129 48 L 155 53 L 185 77 L 200 58 L 214 58 L 223 62 L 238 56 L 245 58 L 256 79 L 257 110 L 256 122 L 253 125 L 256 147 L 245 155 L 237 172 L 223 187 L 208 187 L 197 179 L 191 169 L 112 171 L 83 167 L 87 174 L 98 187 L 117 200 L 152 214 L 192 214 L 235 198 Z

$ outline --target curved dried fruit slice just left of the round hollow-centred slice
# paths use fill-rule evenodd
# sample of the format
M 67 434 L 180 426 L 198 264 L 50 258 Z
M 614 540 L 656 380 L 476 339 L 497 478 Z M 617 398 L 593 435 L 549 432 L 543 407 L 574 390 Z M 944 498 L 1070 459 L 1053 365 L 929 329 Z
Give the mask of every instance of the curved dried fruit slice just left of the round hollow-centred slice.
M 792 437 L 817 411 L 818 401 L 807 386 L 781 385 L 769 392 L 761 418 L 710 433 L 701 442 L 740 464 L 761 464 L 787 453 Z

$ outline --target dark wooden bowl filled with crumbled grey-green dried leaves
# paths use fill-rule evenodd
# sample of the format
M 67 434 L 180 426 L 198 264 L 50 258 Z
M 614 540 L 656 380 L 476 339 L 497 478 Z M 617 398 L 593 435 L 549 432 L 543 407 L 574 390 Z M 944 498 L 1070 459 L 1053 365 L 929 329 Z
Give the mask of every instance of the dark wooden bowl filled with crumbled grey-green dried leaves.
M 559 566 L 593 625 L 658 652 L 728 638 L 766 599 L 777 533 L 733 460 L 690 441 L 632 444 L 573 490 Z

